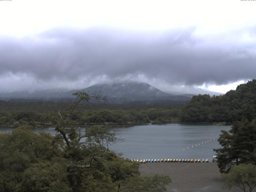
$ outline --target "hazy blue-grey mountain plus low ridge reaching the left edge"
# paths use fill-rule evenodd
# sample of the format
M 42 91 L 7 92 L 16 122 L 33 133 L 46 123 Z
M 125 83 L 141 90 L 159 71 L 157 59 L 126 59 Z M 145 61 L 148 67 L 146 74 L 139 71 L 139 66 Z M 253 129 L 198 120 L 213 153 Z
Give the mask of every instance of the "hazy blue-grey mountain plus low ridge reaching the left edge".
M 100 92 L 107 96 L 108 103 L 114 104 L 185 104 L 191 97 L 174 95 L 163 92 L 154 86 L 142 82 L 122 82 L 112 84 L 96 84 L 83 89 L 90 94 Z M 0 98 L 5 100 L 50 100 L 70 101 L 74 99 L 73 92 L 78 90 L 44 90 L 35 92 L 2 93 Z M 92 102 L 97 102 L 92 100 Z

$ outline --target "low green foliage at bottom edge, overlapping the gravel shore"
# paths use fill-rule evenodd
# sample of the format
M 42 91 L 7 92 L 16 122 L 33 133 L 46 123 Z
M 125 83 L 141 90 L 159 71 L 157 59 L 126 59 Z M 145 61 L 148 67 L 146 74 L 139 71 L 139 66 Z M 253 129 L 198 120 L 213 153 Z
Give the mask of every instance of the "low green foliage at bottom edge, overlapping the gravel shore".
M 155 174 L 152 177 L 134 176 L 120 184 L 120 192 L 166 192 L 166 185 L 172 180 L 169 176 Z

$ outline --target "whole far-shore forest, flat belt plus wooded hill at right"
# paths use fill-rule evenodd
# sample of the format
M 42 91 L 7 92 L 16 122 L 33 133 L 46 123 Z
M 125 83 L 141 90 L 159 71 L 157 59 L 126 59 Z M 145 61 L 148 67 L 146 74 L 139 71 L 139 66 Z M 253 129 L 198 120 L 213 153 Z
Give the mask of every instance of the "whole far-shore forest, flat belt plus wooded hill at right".
M 0 126 L 52 126 L 50 111 L 68 111 L 66 102 L 0 101 Z M 144 123 L 235 122 L 256 118 L 256 80 L 240 84 L 222 96 L 194 96 L 184 106 L 92 104 L 79 106 L 71 116 L 79 125 L 132 126 Z

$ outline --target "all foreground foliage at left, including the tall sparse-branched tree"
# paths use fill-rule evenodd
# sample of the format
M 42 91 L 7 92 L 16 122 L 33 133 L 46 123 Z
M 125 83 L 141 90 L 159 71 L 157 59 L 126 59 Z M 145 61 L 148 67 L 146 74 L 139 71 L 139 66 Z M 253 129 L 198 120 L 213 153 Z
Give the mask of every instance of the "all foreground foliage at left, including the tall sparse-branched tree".
M 78 104 L 88 104 L 90 96 L 74 95 L 77 100 L 68 111 L 48 114 L 56 136 L 34 134 L 29 126 L 0 134 L 0 192 L 116 192 L 122 181 L 132 177 L 143 180 L 145 187 L 164 190 L 170 179 L 140 178 L 137 162 L 108 149 L 117 140 L 114 133 L 101 125 L 80 128 L 74 110 Z M 19 118 L 28 116 L 19 114 Z

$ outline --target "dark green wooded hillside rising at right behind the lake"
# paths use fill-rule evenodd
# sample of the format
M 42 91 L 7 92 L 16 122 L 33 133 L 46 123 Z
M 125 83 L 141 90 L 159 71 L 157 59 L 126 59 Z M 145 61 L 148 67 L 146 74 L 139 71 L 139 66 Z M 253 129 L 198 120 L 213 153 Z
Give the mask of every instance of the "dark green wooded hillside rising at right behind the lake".
M 223 96 L 194 96 L 180 110 L 181 122 L 234 122 L 256 118 L 256 80 L 240 84 Z

